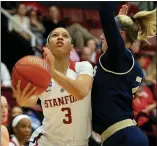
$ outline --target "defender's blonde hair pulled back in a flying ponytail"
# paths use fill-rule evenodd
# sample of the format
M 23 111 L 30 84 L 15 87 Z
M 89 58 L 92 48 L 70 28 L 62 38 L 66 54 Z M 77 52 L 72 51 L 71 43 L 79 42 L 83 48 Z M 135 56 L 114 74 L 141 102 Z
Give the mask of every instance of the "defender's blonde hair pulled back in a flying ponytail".
M 126 15 L 116 16 L 126 33 L 127 41 L 133 43 L 136 39 L 147 40 L 148 36 L 156 35 L 156 9 L 140 11 L 133 18 Z

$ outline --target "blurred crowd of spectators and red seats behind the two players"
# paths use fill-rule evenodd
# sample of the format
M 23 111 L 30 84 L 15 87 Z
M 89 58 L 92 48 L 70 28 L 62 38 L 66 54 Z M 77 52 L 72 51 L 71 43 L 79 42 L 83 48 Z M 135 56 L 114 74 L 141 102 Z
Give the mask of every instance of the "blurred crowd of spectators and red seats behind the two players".
M 124 3 L 126 2 L 121 4 Z M 141 9 L 145 9 L 145 7 L 149 7 L 147 8 L 149 10 L 155 8 L 155 2 L 150 2 L 148 5 L 142 5 L 144 3 L 145 2 L 128 3 L 128 15 L 132 16 Z M 116 14 L 118 14 L 121 4 L 118 6 Z M 5 22 L 5 25 L 8 27 L 11 26 L 12 31 L 16 32 L 19 37 L 22 37 L 22 39 L 30 44 L 31 36 L 24 31 L 24 29 L 28 29 L 35 35 L 36 45 L 33 48 L 34 55 L 42 57 L 42 49 L 46 44 L 47 37 L 50 32 L 57 27 L 65 27 L 72 37 L 74 48 L 70 54 L 71 60 L 86 60 L 89 61 L 94 67 L 102 54 L 101 42 L 99 40 L 102 30 L 99 15 L 96 9 L 81 9 L 73 7 L 64 8 L 63 6 L 55 5 L 43 6 L 39 2 L 2 2 L 2 8 L 4 8 L 4 10 L 19 25 L 22 26 L 21 28 L 12 21 L 7 21 L 7 23 Z M 150 36 L 148 41 L 137 40 L 131 49 L 144 72 L 144 81 L 133 98 L 135 120 L 137 121 L 138 126 L 147 134 L 150 141 L 150 146 L 154 146 L 155 137 L 157 136 L 156 37 Z M 31 132 L 42 124 L 42 109 L 40 106 L 40 101 L 35 107 L 32 108 L 21 108 L 16 104 L 10 88 L 10 70 L 12 70 L 12 68 L 8 66 L 7 62 L 2 60 L 1 93 L 3 96 L 1 96 L 1 123 L 7 126 L 9 134 L 12 138 L 18 137 L 17 139 L 19 141 L 21 140 L 21 142 L 24 144 L 27 143 Z M 15 129 L 15 127 L 12 126 L 13 118 L 19 114 L 26 114 L 30 117 L 30 128 L 27 126 L 19 126 Z M 27 132 L 25 132 L 25 130 L 27 130 Z

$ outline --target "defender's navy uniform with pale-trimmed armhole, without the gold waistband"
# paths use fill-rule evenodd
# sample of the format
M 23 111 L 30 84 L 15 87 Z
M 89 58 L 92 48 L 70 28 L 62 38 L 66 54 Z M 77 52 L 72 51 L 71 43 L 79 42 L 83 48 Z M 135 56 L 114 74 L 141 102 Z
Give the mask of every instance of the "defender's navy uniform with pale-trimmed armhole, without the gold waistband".
M 100 20 L 108 50 L 95 68 L 92 88 L 92 128 L 102 134 L 114 123 L 133 119 L 132 100 L 143 78 L 143 72 L 132 52 L 125 48 L 117 28 L 113 2 L 100 4 Z M 129 138 L 130 137 L 130 138 Z M 130 140 L 133 141 L 132 143 Z M 116 132 L 104 142 L 104 146 L 147 146 L 145 135 L 136 126 Z

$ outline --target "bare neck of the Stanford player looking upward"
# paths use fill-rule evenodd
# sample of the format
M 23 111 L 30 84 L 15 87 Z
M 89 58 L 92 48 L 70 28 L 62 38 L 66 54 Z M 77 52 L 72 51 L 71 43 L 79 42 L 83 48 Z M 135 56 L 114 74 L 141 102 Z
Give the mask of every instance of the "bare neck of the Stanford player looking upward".
M 63 74 L 66 74 L 69 66 L 69 57 L 55 58 L 55 69 Z

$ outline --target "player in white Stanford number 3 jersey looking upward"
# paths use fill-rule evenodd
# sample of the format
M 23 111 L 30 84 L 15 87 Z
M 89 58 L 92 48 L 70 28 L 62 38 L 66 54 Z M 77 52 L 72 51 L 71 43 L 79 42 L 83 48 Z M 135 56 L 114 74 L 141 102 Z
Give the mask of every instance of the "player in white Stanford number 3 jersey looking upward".
M 38 97 L 44 114 L 43 125 L 30 139 L 30 146 L 87 146 L 91 132 L 90 89 L 93 67 L 89 62 L 69 60 L 71 37 L 64 28 L 56 28 L 48 37 L 44 57 L 50 65 L 52 80 L 47 90 L 33 96 L 30 84 L 21 91 L 20 81 L 14 96 L 20 106 L 33 106 Z

